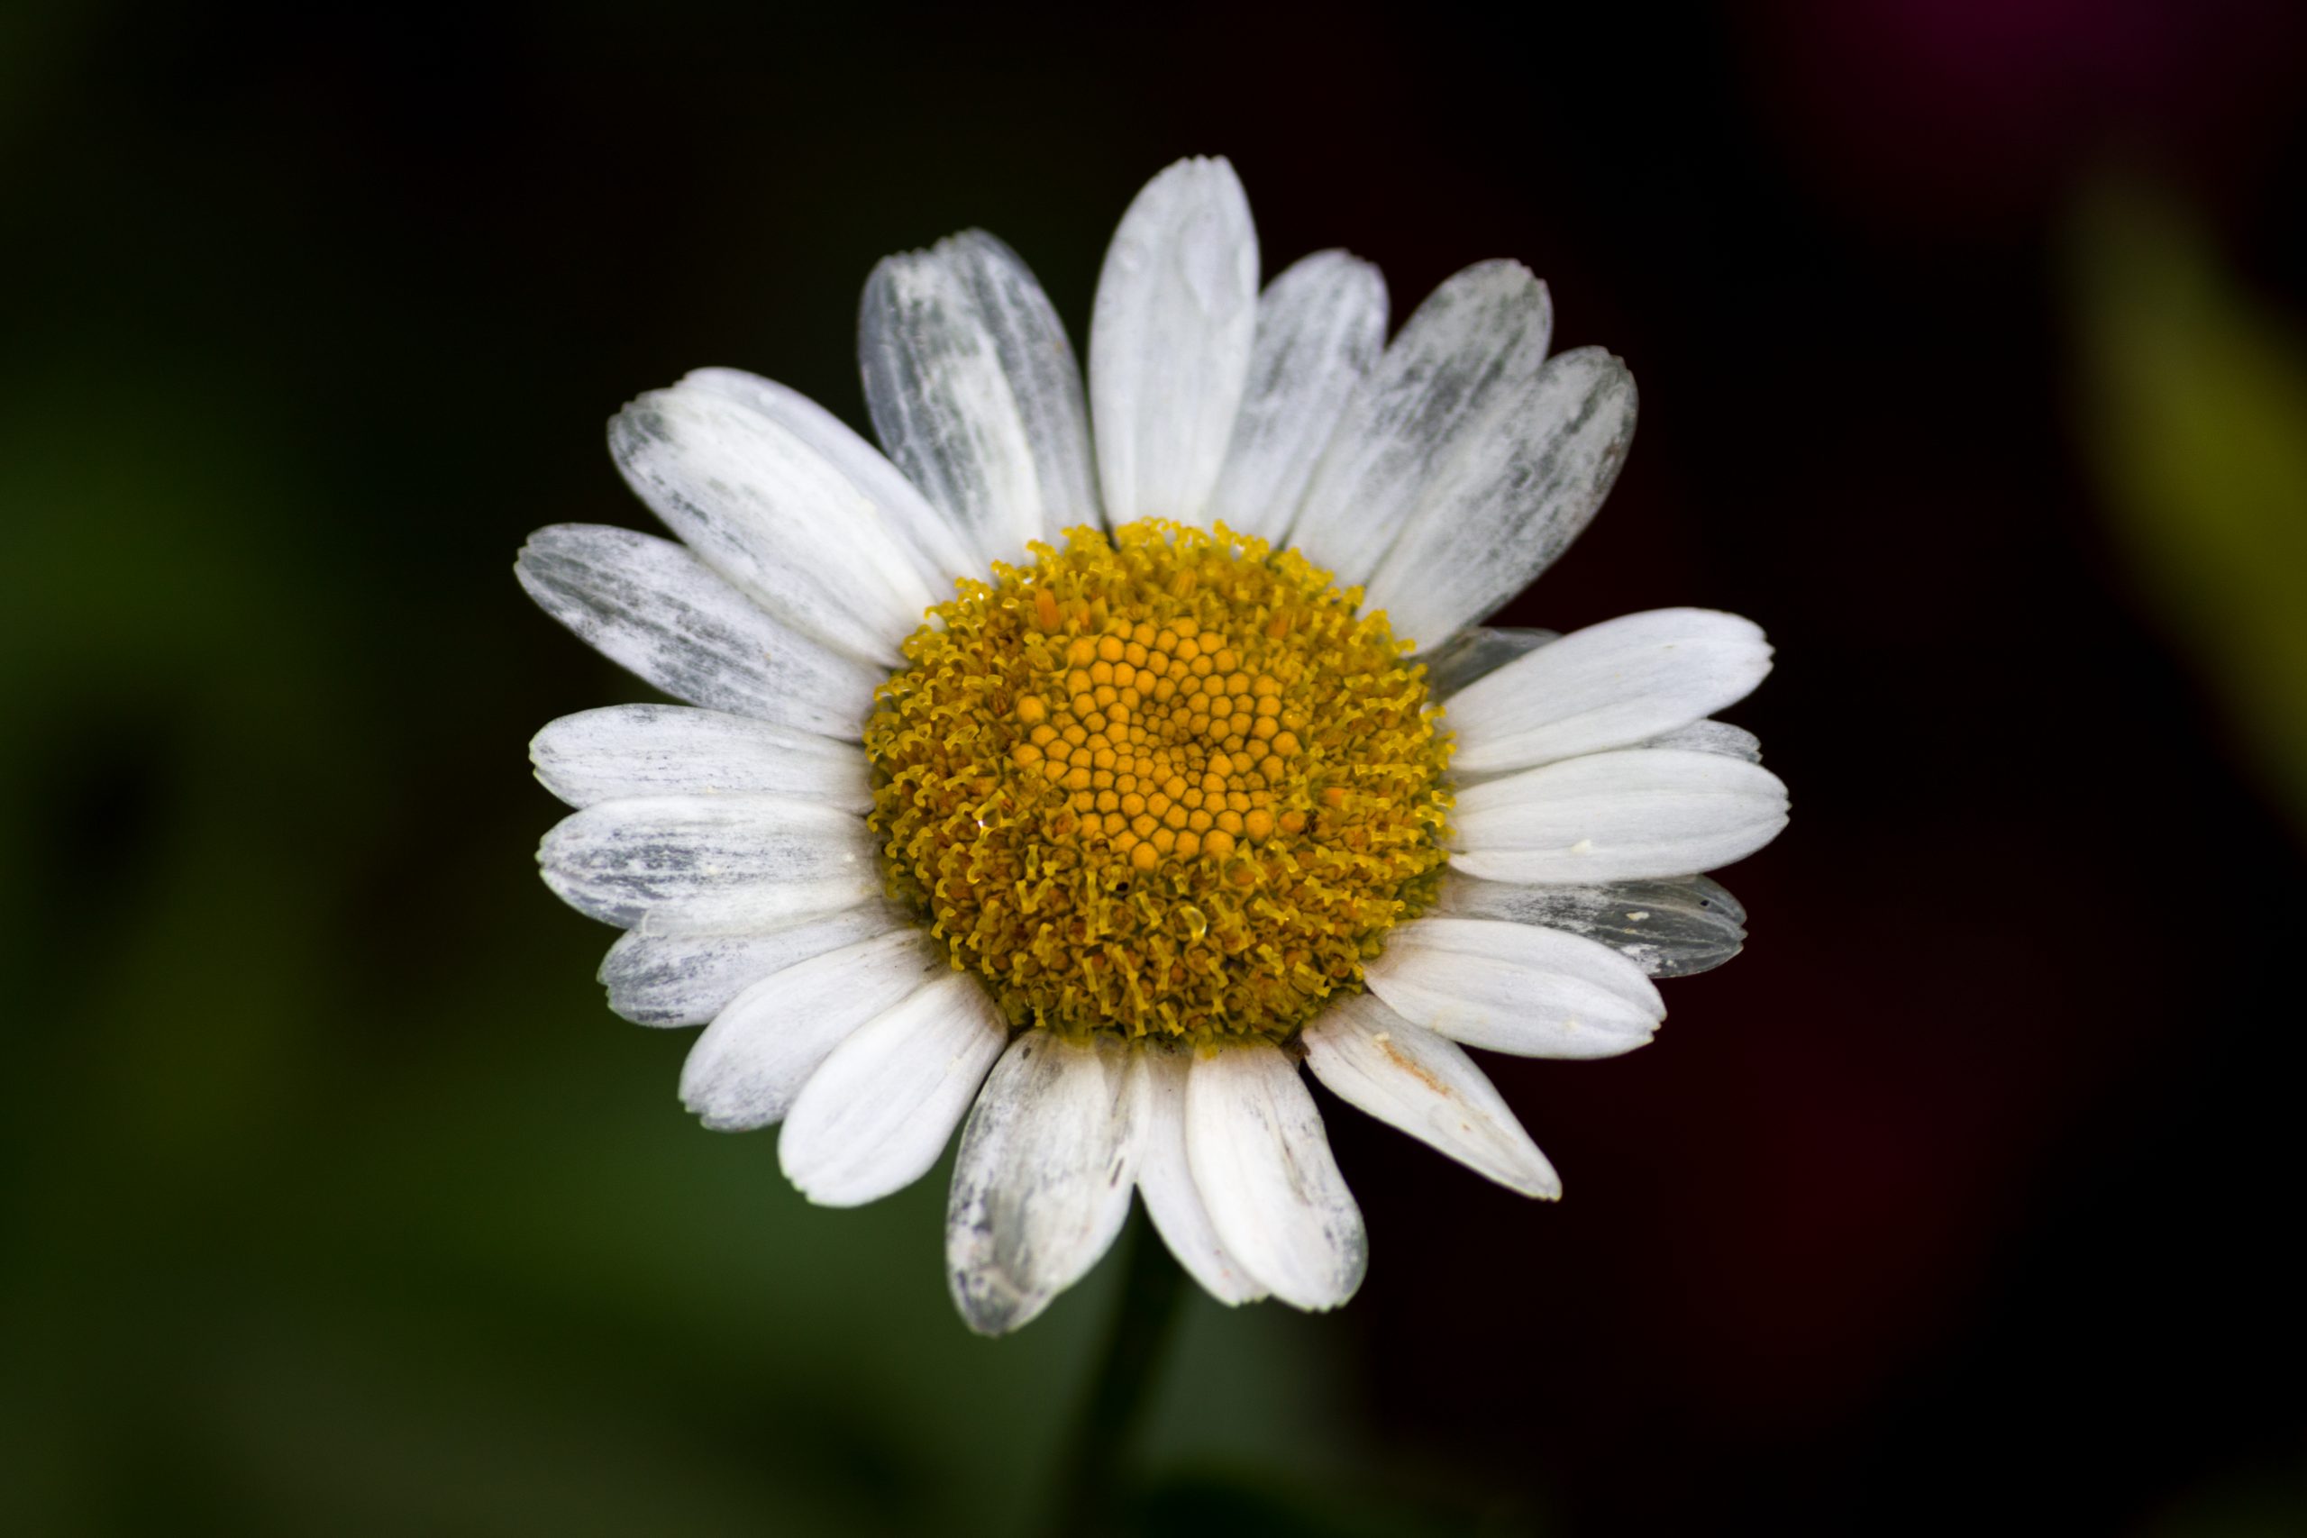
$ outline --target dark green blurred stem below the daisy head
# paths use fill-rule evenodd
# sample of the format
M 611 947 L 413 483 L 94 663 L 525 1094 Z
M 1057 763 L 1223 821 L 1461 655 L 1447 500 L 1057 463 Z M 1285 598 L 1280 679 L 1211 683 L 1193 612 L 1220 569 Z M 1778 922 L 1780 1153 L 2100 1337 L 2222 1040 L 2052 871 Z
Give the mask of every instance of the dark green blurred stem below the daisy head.
M 1052 1513 L 1052 1538 L 1089 1538 L 1112 1533 L 1121 1515 L 1121 1485 L 1128 1453 L 1144 1423 L 1186 1273 L 1170 1259 L 1144 1213 L 1130 1217 L 1128 1259 L 1121 1275 L 1121 1298 L 1105 1335 L 1105 1360 L 1089 1386 L 1089 1404 L 1073 1427 L 1073 1446 L 1061 1464 L 1064 1487 Z

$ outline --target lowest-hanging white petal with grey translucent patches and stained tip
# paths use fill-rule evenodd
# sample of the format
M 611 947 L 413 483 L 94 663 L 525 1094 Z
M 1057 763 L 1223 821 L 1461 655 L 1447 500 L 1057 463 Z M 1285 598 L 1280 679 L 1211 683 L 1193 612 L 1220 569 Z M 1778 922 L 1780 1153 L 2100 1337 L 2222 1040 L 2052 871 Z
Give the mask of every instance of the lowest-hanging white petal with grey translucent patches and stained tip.
M 946 1277 L 978 1335 L 1006 1335 L 1082 1280 L 1130 1215 L 1130 1049 L 1027 1031 L 985 1079 L 946 1204 Z

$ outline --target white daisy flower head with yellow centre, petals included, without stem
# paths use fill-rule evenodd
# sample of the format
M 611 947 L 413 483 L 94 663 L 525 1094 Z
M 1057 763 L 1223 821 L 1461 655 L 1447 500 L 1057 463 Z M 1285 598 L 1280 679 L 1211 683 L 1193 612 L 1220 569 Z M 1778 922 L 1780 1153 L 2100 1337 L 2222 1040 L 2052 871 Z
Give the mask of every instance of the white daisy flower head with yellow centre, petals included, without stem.
M 1350 1298 L 1361 1213 L 1299 1063 L 1560 1194 L 1465 1047 L 1645 1045 L 1652 978 L 1744 938 L 1693 872 L 1767 844 L 1786 786 L 1707 719 L 1769 669 L 1751 623 L 1476 627 L 1633 436 L 1626 367 L 1548 332 L 1511 261 L 1391 346 L 1343 251 L 1260 293 L 1241 184 L 1195 159 L 1114 233 L 1087 399 L 971 231 L 865 284 L 886 457 L 731 369 L 628 406 L 611 450 L 678 542 L 547 528 L 519 579 L 687 706 L 538 736 L 579 807 L 540 860 L 628 932 L 618 1015 L 706 1024 L 685 1105 L 784 1123 L 828 1206 L 967 1116 L 946 1257 L 985 1333 L 1080 1280 L 1133 1190 L 1223 1303 Z

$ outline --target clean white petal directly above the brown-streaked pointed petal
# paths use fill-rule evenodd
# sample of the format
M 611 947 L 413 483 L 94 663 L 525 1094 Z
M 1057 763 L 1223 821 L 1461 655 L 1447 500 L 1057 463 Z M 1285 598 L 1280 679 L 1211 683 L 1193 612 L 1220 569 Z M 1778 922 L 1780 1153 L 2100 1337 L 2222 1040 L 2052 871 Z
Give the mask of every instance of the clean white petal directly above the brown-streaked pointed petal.
M 1666 1019 L 1643 968 L 1608 945 L 1488 918 L 1421 918 L 1363 966 L 1403 1019 L 1525 1058 L 1633 1051 Z

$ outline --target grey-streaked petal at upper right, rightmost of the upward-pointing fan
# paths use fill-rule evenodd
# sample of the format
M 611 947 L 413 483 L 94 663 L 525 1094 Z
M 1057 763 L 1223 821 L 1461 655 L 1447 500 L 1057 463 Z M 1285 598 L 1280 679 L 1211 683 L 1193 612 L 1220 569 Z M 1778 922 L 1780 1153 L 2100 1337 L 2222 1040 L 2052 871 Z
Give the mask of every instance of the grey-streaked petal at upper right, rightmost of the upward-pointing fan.
M 1631 445 L 1626 364 L 1601 348 L 1548 360 L 1463 433 L 1370 574 L 1363 609 L 1384 609 L 1396 636 L 1472 625 L 1569 549 Z

